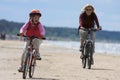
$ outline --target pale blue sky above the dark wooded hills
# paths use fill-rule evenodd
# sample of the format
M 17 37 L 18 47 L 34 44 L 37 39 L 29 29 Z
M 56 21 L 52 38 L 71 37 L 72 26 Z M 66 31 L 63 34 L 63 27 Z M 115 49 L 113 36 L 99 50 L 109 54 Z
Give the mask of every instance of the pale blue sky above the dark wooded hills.
M 95 8 L 103 30 L 120 31 L 120 0 L 0 0 L 0 19 L 25 23 L 30 11 L 39 9 L 45 26 L 78 28 L 86 4 Z

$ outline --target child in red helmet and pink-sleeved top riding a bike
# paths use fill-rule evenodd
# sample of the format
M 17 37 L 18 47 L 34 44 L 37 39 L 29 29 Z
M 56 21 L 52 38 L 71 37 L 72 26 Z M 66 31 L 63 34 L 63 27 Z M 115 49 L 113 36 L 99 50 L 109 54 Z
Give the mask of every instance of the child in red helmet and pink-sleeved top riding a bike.
M 45 29 L 43 27 L 43 25 L 39 22 L 39 19 L 41 17 L 41 13 L 39 10 L 33 9 L 30 13 L 29 13 L 29 21 L 27 23 L 25 23 L 21 29 L 20 29 L 20 36 L 22 37 L 23 35 L 26 36 L 35 36 L 37 38 L 33 39 L 32 44 L 33 44 L 33 48 L 35 48 L 36 51 L 36 59 L 41 60 L 40 57 L 40 53 L 39 53 L 39 45 L 42 43 L 42 37 L 45 36 Z M 19 72 L 22 71 L 23 68 L 23 60 L 25 58 L 25 54 L 26 51 L 28 49 L 28 45 L 30 43 L 30 40 L 27 38 L 26 39 L 26 46 L 25 46 L 25 50 L 24 53 L 22 55 L 22 59 L 21 59 L 21 66 L 19 67 Z

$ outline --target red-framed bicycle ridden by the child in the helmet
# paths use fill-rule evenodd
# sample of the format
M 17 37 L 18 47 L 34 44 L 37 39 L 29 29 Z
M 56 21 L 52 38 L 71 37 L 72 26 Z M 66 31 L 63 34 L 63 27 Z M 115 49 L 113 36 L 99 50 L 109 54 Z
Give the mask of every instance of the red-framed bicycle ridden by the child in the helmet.
M 17 36 L 20 36 L 20 35 L 17 34 Z M 37 37 L 25 36 L 25 35 L 23 35 L 23 37 L 27 37 L 30 39 L 28 50 L 25 55 L 25 59 L 23 61 L 23 79 L 26 79 L 28 71 L 29 71 L 29 78 L 32 78 L 33 74 L 34 74 L 34 70 L 35 70 L 35 66 L 36 66 L 36 57 L 35 57 L 36 52 L 35 52 L 35 49 L 33 48 L 32 40 Z M 42 39 L 45 40 L 46 38 L 42 38 Z

